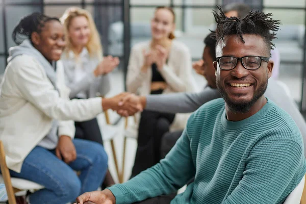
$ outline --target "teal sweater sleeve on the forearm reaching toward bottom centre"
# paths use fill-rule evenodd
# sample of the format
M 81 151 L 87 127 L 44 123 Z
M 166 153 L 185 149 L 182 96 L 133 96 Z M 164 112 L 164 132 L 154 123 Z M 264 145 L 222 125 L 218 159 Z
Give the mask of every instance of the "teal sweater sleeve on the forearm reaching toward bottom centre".
M 161 162 L 124 184 L 109 188 L 116 203 L 134 203 L 149 197 L 170 194 L 184 186 L 195 175 L 187 131 Z

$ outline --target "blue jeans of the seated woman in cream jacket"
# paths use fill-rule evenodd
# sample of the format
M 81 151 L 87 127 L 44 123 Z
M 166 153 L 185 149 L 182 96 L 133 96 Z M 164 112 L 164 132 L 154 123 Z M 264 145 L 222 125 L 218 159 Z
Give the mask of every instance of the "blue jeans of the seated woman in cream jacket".
M 74 139 L 73 144 L 77 159 L 69 164 L 59 160 L 54 150 L 36 146 L 25 158 L 20 173 L 10 171 L 11 176 L 45 187 L 30 195 L 31 204 L 73 202 L 80 194 L 95 191 L 101 185 L 108 168 L 103 146 L 82 139 Z

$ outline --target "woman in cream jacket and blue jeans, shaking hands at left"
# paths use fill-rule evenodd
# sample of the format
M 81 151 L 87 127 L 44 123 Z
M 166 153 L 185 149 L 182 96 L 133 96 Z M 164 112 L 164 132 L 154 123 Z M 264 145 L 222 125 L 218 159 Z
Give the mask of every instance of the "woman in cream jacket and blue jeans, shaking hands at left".
M 73 121 L 92 119 L 108 108 L 115 110 L 124 94 L 69 99 L 64 70 L 55 71 L 52 66 L 65 46 L 58 18 L 41 13 L 25 16 L 12 37 L 18 46 L 9 50 L 0 97 L 0 140 L 7 166 L 13 177 L 44 186 L 30 194 L 27 202 L 72 202 L 99 187 L 108 160 L 101 144 L 73 139 Z M 78 176 L 74 171 L 81 173 Z

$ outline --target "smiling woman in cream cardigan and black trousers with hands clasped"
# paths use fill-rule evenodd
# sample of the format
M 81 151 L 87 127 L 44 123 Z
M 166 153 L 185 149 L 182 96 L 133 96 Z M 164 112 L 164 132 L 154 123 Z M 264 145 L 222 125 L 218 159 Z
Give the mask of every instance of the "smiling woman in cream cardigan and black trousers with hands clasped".
M 173 40 L 174 22 L 175 14 L 171 8 L 157 7 L 151 20 L 152 39 L 132 48 L 127 68 L 127 91 L 139 95 L 194 91 L 191 56 L 185 44 Z M 163 135 L 175 122 L 185 126 L 183 118 L 147 110 L 141 113 L 132 177 L 159 162 Z

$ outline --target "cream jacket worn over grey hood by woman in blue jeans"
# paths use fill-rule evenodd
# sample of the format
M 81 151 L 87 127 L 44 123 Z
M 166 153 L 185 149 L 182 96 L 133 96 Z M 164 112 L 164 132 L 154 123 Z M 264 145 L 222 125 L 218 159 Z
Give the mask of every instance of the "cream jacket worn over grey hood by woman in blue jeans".
M 61 120 L 59 135 L 73 138 L 73 120 L 88 120 L 103 111 L 100 97 L 69 100 L 62 68 L 57 78 L 59 92 L 32 56 L 17 56 L 8 64 L 0 96 L 0 140 L 9 169 L 21 171 L 23 160 L 50 131 L 53 119 Z

